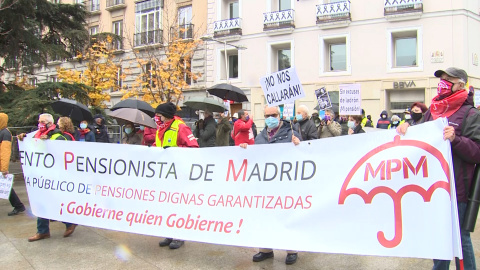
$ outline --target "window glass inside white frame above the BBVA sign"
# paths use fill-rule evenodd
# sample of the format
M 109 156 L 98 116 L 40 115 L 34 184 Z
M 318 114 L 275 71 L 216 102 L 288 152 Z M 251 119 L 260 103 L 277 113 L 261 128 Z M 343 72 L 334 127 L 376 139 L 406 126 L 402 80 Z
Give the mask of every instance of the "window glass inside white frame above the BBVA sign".
M 417 66 L 417 37 L 394 38 L 395 67 Z

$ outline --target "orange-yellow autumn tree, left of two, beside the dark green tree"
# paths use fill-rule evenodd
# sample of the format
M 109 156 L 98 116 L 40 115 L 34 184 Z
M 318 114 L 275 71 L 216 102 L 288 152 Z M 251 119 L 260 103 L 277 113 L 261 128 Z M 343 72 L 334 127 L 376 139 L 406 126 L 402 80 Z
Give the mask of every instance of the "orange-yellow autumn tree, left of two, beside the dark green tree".
M 86 66 L 84 70 L 62 67 L 57 69 L 58 78 L 62 81 L 89 86 L 89 105 L 94 108 L 103 108 L 104 101 L 110 100 L 109 90 L 119 90 L 117 82 L 119 65 L 114 62 L 115 49 L 110 46 L 113 40 L 114 38 L 109 35 L 105 39 L 95 40 L 85 54 L 78 55 L 80 61 Z

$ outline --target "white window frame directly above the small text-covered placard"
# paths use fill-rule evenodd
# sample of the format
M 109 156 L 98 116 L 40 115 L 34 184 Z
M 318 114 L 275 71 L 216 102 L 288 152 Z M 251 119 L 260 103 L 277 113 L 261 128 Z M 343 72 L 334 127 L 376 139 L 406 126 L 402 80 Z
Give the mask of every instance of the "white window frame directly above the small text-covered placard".
M 335 71 L 329 70 L 327 66 L 330 66 L 330 56 L 329 56 L 329 45 L 335 44 L 335 40 L 345 39 L 345 50 L 346 50 L 346 68 L 344 71 Z M 352 75 L 352 63 L 351 63 L 351 54 L 350 54 L 350 34 L 339 34 L 339 35 L 330 35 L 330 36 L 319 36 L 319 55 L 320 55 L 320 77 L 324 76 L 346 76 Z M 338 44 L 338 43 L 337 43 Z

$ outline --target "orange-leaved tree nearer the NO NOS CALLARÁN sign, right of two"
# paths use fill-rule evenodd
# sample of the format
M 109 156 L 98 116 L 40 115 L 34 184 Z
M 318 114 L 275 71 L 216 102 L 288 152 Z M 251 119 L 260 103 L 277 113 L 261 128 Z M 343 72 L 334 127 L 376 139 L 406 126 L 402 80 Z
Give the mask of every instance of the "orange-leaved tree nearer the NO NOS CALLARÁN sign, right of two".
M 190 87 L 189 82 L 200 76 L 191 72 L 191 61 L 201 41 L 183 39 L 183 31 L 186 30 L 173 31 L 163 50 L 155 46 L 133 50 L 140 74 L 122 99 L 141 97 L 154 108 L 165 102 L 178 105 L 183 91 Z

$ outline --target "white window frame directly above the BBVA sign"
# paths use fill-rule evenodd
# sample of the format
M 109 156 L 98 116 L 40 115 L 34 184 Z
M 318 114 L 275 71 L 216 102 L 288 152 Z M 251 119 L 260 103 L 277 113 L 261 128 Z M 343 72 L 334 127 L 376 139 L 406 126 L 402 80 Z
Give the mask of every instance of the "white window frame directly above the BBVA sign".
M 395 67 L 395 36 L 403 32 L 417 32 L 417 66 Z M 404 27 L 387 29 L 387 73 L 423 71 L 423 34 L 422 27 Z

